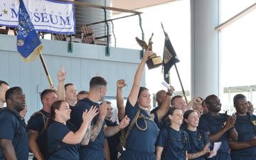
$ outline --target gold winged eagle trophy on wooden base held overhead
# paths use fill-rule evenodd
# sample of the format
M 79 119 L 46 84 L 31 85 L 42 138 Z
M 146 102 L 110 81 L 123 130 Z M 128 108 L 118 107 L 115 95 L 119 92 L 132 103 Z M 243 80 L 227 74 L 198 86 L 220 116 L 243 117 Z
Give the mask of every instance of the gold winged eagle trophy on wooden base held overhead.
M 136 41 L 144 50 L 152 50 L 152 37 L 154 36 L 154 33 L 152 33 L 151 38 L 149 38 L 149 44 L 147 45 L 145 41 L 140 40 L 138 37 L 136 37 Z M 146 65 L 148 66 L 149 70 L 152 68 L 158 68 L 159 66 L 163 65 L 163 60 L 161 60 L 160 56 L 156 56 L 156 53 L 151 55 L 149 59 L 146 61 Z

